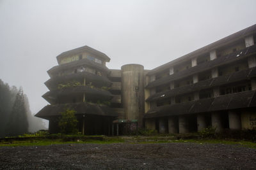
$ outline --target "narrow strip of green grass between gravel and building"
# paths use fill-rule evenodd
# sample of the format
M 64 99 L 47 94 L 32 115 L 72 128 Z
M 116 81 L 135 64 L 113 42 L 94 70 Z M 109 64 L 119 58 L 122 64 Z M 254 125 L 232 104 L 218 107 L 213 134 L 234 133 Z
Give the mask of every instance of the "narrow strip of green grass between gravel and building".
M 92 137 L 92 136 L 91 136 Z M 173 139 L 163 138 L 161 136 L 154 137 L 140 137 L 134 136 L 129 138 L 122 137 L 103 137 L 99 139 L 76 139 L 75 141 L 65 141 L 60 139 L 30 139 L 25 141 L 13 140 L 4 141 L 0 143 L 0 146 L 42 146 L 42 145 L 60 145 L 60 144 L 78 144 L 78 143 L 95 143 L 95 144 L 109 144 L 109 143 L 130 143 L 130 144 L 146 144 L 146 143 L 197 143 L 198 145 L 204 145 L 206 143 L 220 143 L 225 145 L 235 145 L 248 148 L 256 148 L 256 143 L 250 141 L 232 141 L 228 139 Z

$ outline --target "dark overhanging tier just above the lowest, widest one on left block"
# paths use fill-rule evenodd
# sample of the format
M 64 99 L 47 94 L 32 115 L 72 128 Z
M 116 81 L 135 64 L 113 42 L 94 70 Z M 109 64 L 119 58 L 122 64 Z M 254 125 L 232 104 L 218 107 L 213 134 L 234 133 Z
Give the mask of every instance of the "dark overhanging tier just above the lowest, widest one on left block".
M 63 89 L 52 90 L 46 92 L 42 97 L 44 97 L 44 99 L 49 103 L 56 104 L 58 103 L 58 98 L 60 97 L 71 97 L 80 94 L 85 94 L 85 97 L 88 100 L 110 100 L 113 97 L 109 91 L 92 88 L 89 86 L 67 87 Z

